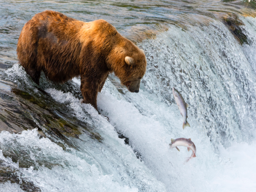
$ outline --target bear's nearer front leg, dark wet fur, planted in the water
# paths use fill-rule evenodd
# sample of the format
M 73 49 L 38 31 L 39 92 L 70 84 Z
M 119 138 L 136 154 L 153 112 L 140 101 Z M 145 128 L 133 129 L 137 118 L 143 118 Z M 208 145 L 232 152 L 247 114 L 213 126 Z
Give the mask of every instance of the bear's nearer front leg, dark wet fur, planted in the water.
M 97 108 L 97 80 L 81 76 L 81 92 L 83 95 L 83 102 L 90 103 L 96 110 Z

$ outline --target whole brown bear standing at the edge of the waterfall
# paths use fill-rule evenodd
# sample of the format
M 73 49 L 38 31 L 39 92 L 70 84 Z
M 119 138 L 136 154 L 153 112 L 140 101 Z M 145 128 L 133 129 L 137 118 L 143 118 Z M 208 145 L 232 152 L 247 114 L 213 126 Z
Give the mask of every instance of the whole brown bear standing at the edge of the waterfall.
M 83 22 L 56 11 L 38 13 L 25 24 L 17 55 L 38 85 L 41 71 L 56 83 L 80 76 L 83 102 L 95 109 L 109 73 L 138 93 L 147 65 L 144 51 L 105 20 Z

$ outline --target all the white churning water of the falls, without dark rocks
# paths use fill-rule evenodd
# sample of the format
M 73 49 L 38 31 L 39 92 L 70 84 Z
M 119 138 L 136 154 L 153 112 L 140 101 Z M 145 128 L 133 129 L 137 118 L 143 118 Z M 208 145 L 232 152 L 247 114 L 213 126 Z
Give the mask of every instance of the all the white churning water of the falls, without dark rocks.
M 70 139 L 79 148 L 63 150 L 48 138 L 39 139 L 36 129 L 3 131 L 1 147 L 29 154 L 34 166 L 19 168 L 1 152 L 0 159 L 42 191 L 256 191 L 256 19 L 241 19 L 250 46 L 238 44 L 215 20 L 187 31 L 171 26 L 143 41 L 139 46 L 148 68 L 140 92 L 121 94 L 107 80 L 98 95 L 98 107 L 109 122 L 72 93 L 46 89 L 54 100 L 67 103 L 75 117 L 95 127 L 103 141 L 84 133 Z M 18 65 L 7 74 L 30 82 Z M 190 105 L 191 128 L 182 129 L 173 86 Z M 131 147 L 115 129 L 129 138 Z M 188 163 L 191 151 L 169 149 L 171 138 L 180 137 L 191 138 L 197 148 L 197 157 Z M 38 164 L 42 159 L 50 168 Z M 1 187 L 20 190 L 10 183 Z

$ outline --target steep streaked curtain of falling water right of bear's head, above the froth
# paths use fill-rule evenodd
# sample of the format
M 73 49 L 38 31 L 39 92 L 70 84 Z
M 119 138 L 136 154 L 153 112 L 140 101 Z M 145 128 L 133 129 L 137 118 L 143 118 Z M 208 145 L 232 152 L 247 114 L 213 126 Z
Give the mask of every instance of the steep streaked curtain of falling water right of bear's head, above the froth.
M 245 52 L 222 23 L 212 21 L 187 31 L 171 27 L 141 46 L 148 58 L 142 81 L 146 91 L 170 106 L 175 103 L 172 87 L 180 90 L 190 105 L 189 115 L 213 144 L 250 139 L 256 119 L 255 45 L 245 45 Z

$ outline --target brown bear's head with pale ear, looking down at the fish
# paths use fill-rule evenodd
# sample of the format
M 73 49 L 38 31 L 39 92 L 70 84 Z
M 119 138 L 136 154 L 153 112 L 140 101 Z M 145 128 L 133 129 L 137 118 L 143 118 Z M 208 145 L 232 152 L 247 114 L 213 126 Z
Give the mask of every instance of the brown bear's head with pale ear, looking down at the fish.
M 144 50 L 125 39 L 112 49 L 108 63 L 111 70 L 120 79 L 121 84 L 125 85 L 132 93 L 139 92 L 140 80 L 147 68 Z

